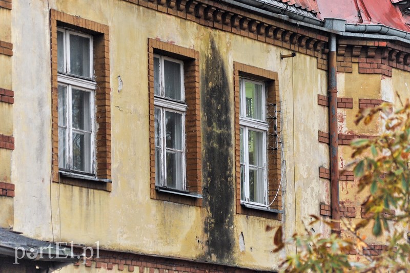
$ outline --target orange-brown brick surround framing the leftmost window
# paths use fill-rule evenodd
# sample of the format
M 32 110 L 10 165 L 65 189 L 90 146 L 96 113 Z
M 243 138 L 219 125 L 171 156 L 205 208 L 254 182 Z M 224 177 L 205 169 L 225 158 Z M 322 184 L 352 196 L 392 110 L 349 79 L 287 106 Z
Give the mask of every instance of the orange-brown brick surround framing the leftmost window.
M 93 36 L 95 90 L 96 175 L 95 179 L 65 177 L 58 172 L 58 81 L 57 27 L 73 29 Z M 109 28 L 91 20 L 50 10 L 51 28 L 51 103 L 52 103 L 52 172 L 53 181 L 111 191 L 111 103 Z

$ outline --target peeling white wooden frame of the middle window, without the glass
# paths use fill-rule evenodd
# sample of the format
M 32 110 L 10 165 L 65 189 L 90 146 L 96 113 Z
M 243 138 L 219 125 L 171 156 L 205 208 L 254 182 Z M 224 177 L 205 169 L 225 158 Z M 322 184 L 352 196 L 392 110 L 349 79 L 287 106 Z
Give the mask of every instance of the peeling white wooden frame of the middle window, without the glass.
M 181 175 L 182 181 L 180 181 L 181 188 L 170 188 L 172 190 L 180 190 L 186 191 L 187 184 L 186 184 L 186 136 L 185 136 L 185 116 L 187 112 L 187 104 L 185 103 L 185 88 L 184 88 L 184 75 L 183 75 L 183 61 L 170 58 L 163 55 L 154 54 L 154 58 L 159 59 L 159 95 L 154 94 L 154 109 L 159 109 L 161 111 L 161 124 L 160 124 L 160 131 L 161 131 L 161 156 L 159 159 L 159 163 L 161 166 L 161 177 L 158 179 L 159 184 L 156 181 L 156 186 L 168 187 L 167 186 L 167 162 L 166 162 L 166 154 L 167 151 L 174 151 L 174 149 L 167 148 L 166 146 L 166 120 L 165 120 L 165 113 L 166 112 L 173 112 L 180 114 L 181 118 L 181 141 L 182 141 L 182 162 L 181 162 Z M 180 65 L 180 81 L 181 81 L 181 100 L 175 100 L 172 98 L 165 97 L 165 88 L 164 88 L 164 81 L 165 81 L 165 73 L 163 73 L 164 67 L 164 60 L 169 60 L 172 62 L 177 62 Z M 155 79 L 154 79 L 155 82 Z M 154 111 L 155 113 L 155 111 Z M 155 148 L 159 148 L 155 146 Z M 177 150 L 175 150 L 177 151 Z M 178 151 L 180 152 L 180 151 Z M 157 180 L 157 179 L 155 179 Z M 177 182 L 178 183 L 178 182 Z

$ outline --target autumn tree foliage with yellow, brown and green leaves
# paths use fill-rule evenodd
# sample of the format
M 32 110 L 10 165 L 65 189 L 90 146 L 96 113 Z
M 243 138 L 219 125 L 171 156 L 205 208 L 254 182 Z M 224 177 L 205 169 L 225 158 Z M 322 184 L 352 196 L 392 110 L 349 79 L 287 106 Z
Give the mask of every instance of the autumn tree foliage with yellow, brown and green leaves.
M 366 218 L 357 224 L 342 221 L 348 238 L 339 238 L 336 234 L 325 238 L 323 234 L 310 232 L 305 228 L 305 235 L 295 234 L 285 241 L 282 239 L 282 227 L 275 234 L 274 243 L 279 251 L 286 244 L 296 245 L 297 253 L 283 261 L 281 269 L 285 272 L 311 270 L 315 272 L 373 272 L 373 271 L 410 271 L 410 245 L 406 230 L 410 221 L 410 102 L 392 113 L 392 105 L 383 103 L 373 109 L 362 110 L 357 114 L 356 124 L 368 125 L 379 117 L 384 125 L 384 132 L 372 139 L 358 139 L 351 143 L 355 180 L 358 192 L 366 196 L 362 206 Z M 394 209 L 396 214 L 390 210 Z M 314 217 L 310 225 L 321 221 L 332 227 L 332 221 Z M 366 228 L 366 226 L 369 227 Z M 386 247 L 379 255 L 370 255 L 364 234 L 386 240 Z M 353 238 L 353 239 L 352 239 Z M 348 259 L 347 253 L 356 251 L 367 262 L 357 263 Z

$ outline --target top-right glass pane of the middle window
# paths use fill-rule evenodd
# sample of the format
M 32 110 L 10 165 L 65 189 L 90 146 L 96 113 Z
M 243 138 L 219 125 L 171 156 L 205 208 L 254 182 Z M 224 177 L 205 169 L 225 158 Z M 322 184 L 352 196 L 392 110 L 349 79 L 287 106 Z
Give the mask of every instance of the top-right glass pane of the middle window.
M 181 65 L 178 62 L 164 60 L 163 73 L 165 96 L 181 100 Z

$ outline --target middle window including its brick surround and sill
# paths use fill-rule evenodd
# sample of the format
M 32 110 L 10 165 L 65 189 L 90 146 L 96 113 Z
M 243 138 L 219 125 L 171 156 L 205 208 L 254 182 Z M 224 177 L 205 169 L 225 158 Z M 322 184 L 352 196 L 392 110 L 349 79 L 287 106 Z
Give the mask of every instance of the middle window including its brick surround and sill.
M 150 197 L 202 205 L 199 52 L 148 38 Z

